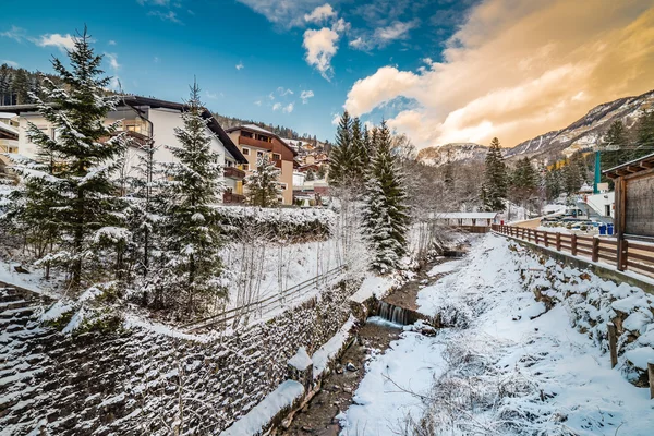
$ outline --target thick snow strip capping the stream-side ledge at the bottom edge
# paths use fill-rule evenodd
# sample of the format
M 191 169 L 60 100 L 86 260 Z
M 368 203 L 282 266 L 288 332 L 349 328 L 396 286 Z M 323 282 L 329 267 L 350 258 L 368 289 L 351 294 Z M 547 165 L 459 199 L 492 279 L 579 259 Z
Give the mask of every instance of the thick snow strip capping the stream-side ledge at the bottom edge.
M 270 392 L 247 414 L 221 433 L 222 436 L 257 435 L 281 410 L 293 404 L 304 393 L 304 387 L 295 380 L 286 380 Z

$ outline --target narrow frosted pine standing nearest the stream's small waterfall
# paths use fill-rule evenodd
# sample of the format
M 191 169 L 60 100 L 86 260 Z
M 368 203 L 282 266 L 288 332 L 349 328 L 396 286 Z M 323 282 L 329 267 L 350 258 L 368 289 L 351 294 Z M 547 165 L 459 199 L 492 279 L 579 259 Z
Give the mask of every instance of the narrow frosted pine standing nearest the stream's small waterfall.
M 372 268 L 388 272 L 407 252 L 409 226 L 407 193 L 391 153 L 390 131 L 383 121 L 376 134 L 376 153 L 368 171 L 363 221 L 373 250 Z

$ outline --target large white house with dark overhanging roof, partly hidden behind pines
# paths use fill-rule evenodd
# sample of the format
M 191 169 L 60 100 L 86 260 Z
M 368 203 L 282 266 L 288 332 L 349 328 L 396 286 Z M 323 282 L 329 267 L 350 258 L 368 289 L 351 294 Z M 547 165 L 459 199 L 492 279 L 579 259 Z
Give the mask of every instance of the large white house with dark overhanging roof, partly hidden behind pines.
M 165 145 L 180 145 L 174 136 L 174 129 L 182 128 L 182 111 L 186 106 L 180 102 L 159 100 L 140 96 L 121 96 L 116 110 L 108 113 L 106 123 L 120 123 L 119 131 L 128 132 L 132 137 L 132 146 L 126 150 L 124 168 L 121 172 L 129 175 L 134 172 L 138 155 L 144 154 L 143 147 L 154 141 L 155 159 L 160 162 L 173 161 L 175 157 Z M 36 158 L 37 146 L 27 137 L 27 122 L 34 123 L 52 138 L 55 129 L 38 113 L 36 105 L 0 106 L 0 112 L 17 116 L 17 153 Z M 204 109 L 202 116 L 207 120 L 207 133 L 211 136 L 211 148 L 218 154 L 218 164 L 223 167 L 225 203 L 242 203 L 243 179 L 245 172 L 240 169 L 247 165 L 247 159 L 231 137 L 220 126 L 211 112 Z

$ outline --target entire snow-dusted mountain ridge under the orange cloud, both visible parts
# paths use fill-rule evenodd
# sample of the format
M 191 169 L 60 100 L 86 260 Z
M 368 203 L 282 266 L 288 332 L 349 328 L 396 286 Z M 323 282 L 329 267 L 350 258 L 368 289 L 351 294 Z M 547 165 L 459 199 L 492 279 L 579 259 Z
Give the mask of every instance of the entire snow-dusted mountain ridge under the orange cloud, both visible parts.
M 628 131 L 632 130 L 645 110 L 654 109 L 654 90 L 635 97 L 623 97 L 598 105 L 567 128 L 544 133 L 505 149 L 505 157 L 513 160 L 521 157 L 552 161 L 560 155 L 590 149 L 597 144 L 614 121 L 621 120 Z M 501 140 L 501 138 L 500 138 Z M 483 160 L 487 147 L 471 143 L 446 144 L 420 150 L 417 157 L 427 165 L 440 166 L 450 161 Z

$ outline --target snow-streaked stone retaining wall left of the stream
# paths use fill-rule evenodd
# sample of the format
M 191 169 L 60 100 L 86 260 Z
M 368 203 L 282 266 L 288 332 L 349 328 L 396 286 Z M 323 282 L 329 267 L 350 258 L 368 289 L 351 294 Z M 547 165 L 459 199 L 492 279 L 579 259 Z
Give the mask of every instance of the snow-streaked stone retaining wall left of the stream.
M 319 301 L 202 343 L 143 328 L 64 336 L 37 322 L 36 301 L 1 289 L 0 301 L 23 306 L 0 307 L 0 429 L 164 435 L 177 425 L 217 434 L 287 379 L 300 347 L 311 354 L 338 331 L 352 292 L 341 283 Z

